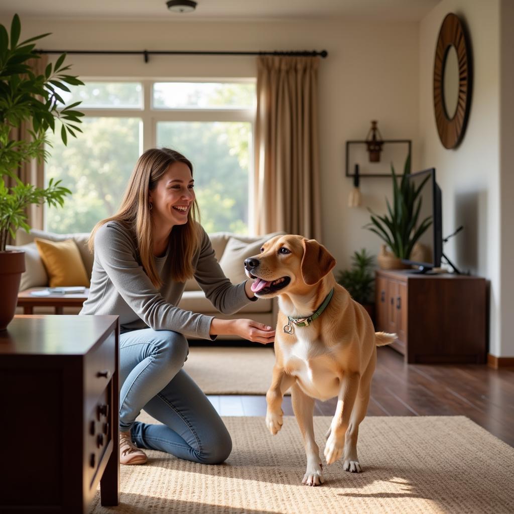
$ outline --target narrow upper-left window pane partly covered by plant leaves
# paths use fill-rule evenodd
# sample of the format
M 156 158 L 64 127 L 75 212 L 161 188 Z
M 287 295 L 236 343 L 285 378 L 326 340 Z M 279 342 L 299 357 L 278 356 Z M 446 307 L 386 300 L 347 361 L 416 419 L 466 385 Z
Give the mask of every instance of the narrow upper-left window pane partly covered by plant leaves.
M 81 108 L 142 108 L 142 86 L 139 82 L 87 82 L 74 86 L 71 93 L 59 91 L 67 105 L 81 101 Z

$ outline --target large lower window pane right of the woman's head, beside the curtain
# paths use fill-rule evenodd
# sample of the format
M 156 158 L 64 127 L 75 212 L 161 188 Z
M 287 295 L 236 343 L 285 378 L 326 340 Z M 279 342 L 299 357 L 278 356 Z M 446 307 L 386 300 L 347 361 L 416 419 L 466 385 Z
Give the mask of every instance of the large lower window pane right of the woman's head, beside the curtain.
M 251 123 L 159 122 L 157 145 L 193 163 L 201 224 L 207 232 L 248 233 Z

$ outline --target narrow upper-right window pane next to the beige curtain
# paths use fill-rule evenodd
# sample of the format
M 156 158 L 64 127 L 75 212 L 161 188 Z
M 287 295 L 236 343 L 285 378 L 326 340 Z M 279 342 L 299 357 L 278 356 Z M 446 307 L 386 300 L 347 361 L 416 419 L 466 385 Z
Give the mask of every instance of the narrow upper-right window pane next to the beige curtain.
M 155 109 L 250 109 L 255 83 L 156 82 Z

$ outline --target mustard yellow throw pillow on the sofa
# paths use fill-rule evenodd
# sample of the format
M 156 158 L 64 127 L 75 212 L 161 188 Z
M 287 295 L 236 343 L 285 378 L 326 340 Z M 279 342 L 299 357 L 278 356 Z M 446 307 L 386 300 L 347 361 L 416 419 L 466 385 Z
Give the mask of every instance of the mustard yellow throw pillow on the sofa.
M 36 237 L 34 243 L 48 273 L 50 287 L 89 287 L 86 268 L 74 240 L 48 241 Z

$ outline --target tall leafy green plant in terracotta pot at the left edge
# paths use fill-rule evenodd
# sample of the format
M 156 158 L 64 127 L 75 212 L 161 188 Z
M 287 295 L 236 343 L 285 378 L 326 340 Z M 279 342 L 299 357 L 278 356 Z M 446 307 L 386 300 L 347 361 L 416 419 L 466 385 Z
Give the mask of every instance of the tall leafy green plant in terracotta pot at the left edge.
M 52 206 L 64 203 L 71 192 L 50 181 L 47 188 L 37 188 L 24 183 L 16 176 L 16 170 L 31 159 L 45 159 L 48 151 L 46 132 L 56 130 L 56 121 L 61 123 L 61 138 L 66 144 L 67 134 L 76 137 L 82 113 L 74 111 L 80 102 L 65 106 L 59 90 L 69 91 L 68 85 L 82 85 L 77 78 L 66 75 L 69 66 L 63 66 L 66 54 L 62 54 L 54 65 L 49 63 L 43 74 L 35 75 L 29 65 L 30 59 L 39 59 L 34 52 L 34 41 L 44 38 L 42 34 L 19 42 L 20 18 L 14 15 L 11 30 L 0 25 L 0 330 L 7 327 L 14 317 L 20 278 L 25 270 L 25 253 L 6 251 L 8 234 L 15 237 L 19 227 L 30 230 L 25 208 L 30 204 L 47 203 Z M 29 127 L 27 138 L 14 137 L 22 123 Z M 10 177 L 13 186 L 6 183 Z

